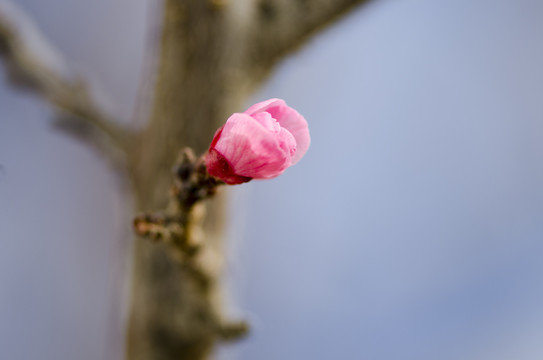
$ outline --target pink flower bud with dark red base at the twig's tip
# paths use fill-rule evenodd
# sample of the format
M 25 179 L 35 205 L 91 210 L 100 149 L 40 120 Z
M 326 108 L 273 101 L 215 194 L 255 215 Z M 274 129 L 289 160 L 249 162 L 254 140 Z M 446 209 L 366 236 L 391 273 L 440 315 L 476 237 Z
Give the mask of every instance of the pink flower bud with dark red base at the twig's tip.
M 271 179 L 297 163 L 309 143 L 304 117 L 281 99 L 266 100 L 232 114 L 217 130 L 207 171 L 231 185 Z

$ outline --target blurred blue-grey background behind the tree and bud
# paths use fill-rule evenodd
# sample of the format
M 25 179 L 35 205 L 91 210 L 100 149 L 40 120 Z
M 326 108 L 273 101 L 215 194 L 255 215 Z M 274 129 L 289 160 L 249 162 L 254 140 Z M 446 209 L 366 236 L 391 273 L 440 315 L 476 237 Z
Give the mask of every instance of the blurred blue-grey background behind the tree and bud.
M 156 6 L 16 3 L 129 119 Z M 542 16 L 374 0 L 280 64 L 251 102 L 284 98 L 312 145 L 231 189 L 225 281 L 253 332 L 220 359 L 543 358 Z M 123 190 L 0 76 L 0 358 L 119 359 Z

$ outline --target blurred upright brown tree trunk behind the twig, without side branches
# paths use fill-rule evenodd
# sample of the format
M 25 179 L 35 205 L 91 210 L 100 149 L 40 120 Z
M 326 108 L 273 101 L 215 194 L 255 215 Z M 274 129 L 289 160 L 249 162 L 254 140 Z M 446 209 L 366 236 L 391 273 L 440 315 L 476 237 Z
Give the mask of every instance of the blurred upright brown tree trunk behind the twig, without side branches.
M 228 7 L 205 0 L 165 0 L 154 104 L 130 164 L 137 211 L 165 209 L 171 168 L 179 150 L 202 154 L 215 130 L 242 106 L 248 81 L 239 66 Z M 239 75 L 241 74 L 241 75 Z M 192 261 L 208 274 L 206 286 L 181 266 L 166 244 L 137 239 L 128 358 L 208 359 L 218 339 L 229 337 L 219 276 L 223 251 L 222 201 L 213 199 L 203 219 L 205 246 Z

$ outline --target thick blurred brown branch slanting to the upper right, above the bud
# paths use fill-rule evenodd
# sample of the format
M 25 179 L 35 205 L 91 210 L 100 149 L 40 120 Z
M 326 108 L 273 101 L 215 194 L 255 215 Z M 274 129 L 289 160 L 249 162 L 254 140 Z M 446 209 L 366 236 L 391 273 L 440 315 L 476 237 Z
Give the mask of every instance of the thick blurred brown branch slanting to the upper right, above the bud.
M 256 29 L 249 39 L 251 63 L 269 71 L 309 37 L 368 0 L 257 0 Z

